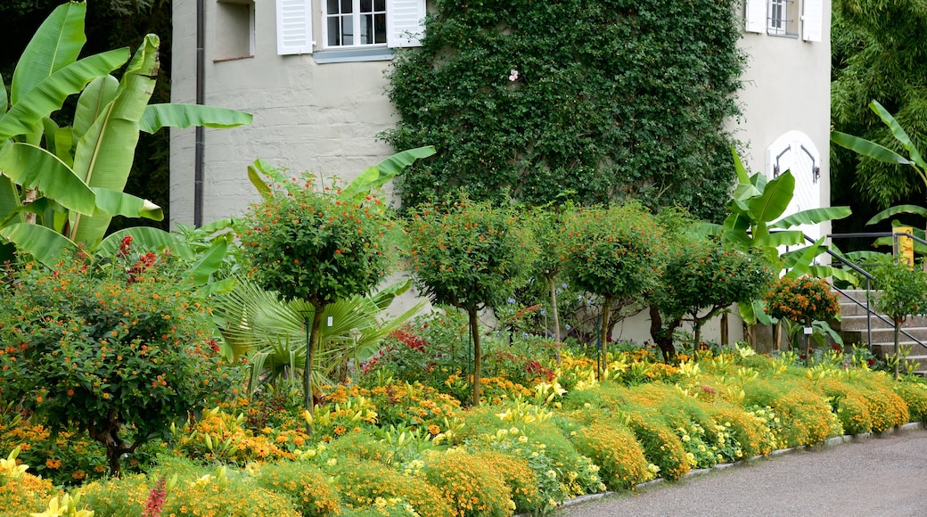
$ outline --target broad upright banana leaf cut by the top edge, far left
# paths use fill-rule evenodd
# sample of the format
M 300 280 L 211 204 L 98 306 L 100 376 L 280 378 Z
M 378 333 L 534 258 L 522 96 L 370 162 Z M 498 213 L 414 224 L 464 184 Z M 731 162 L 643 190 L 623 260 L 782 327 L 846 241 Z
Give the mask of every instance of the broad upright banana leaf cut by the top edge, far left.
M 10 102 L 16 104 L 23 95 L 46 77 L 70 65 L 81 54 L 87 38 L 83 35 L 85 3 L 68 2 L 57 6 L 32 36 L 13 72 Z

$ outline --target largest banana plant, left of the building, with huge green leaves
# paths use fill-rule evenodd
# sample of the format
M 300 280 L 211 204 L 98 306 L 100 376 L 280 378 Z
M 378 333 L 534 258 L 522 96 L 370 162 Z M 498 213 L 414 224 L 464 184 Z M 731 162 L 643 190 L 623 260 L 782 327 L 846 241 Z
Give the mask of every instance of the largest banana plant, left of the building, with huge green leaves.
M 148 105 L 158 36 L 146 36 L 117 80 L 109 72 L 126 62 L 128 49 L 77 59 L 85 15 L 83 2 L 58 6 L 23 51 L 9 102 L 6 90 L 0 95 L 0 236 L 45 264 L 78 246 L 94 249 L 115 215 L 163 219 L 159 207 L 122 192 L 139 131 L 251 120 L 219 107 Z M 73 123 L 58 127 L 50 115 L 75 94 Z

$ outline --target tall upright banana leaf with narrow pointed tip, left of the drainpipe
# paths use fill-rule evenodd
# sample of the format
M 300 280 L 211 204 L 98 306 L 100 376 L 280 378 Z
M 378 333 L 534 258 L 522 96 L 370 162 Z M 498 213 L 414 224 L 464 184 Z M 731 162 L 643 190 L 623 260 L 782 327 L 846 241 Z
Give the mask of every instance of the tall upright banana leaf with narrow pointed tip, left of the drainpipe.
M 126 68 L 116 98 L 77 143 L 74 173 L 91 187 L 122 191 L 132 170 L 139 120 L 158 77 L 158 36 L 148 34 Z M 70 238 L 96 246 L 106 234 L 111 216 L 77 215 L 71 221 Z

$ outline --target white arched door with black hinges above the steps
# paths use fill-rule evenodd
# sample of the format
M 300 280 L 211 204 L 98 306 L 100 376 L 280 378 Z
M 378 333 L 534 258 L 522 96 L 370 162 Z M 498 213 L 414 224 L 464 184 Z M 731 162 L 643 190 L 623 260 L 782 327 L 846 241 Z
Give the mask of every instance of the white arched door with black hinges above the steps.
M 766 149 L 766 165 L 770 180 L 786 170 L 791 170 L 795 178 L 792 202 L 782 217 L 809 208 L 821 208 L 820 153 L 804 132 L 790 131 L 777 138 Z M 821 235 L 820 224 L 802 224 L 793 229 L 800 230 L 812 239 L 818 239 Z

